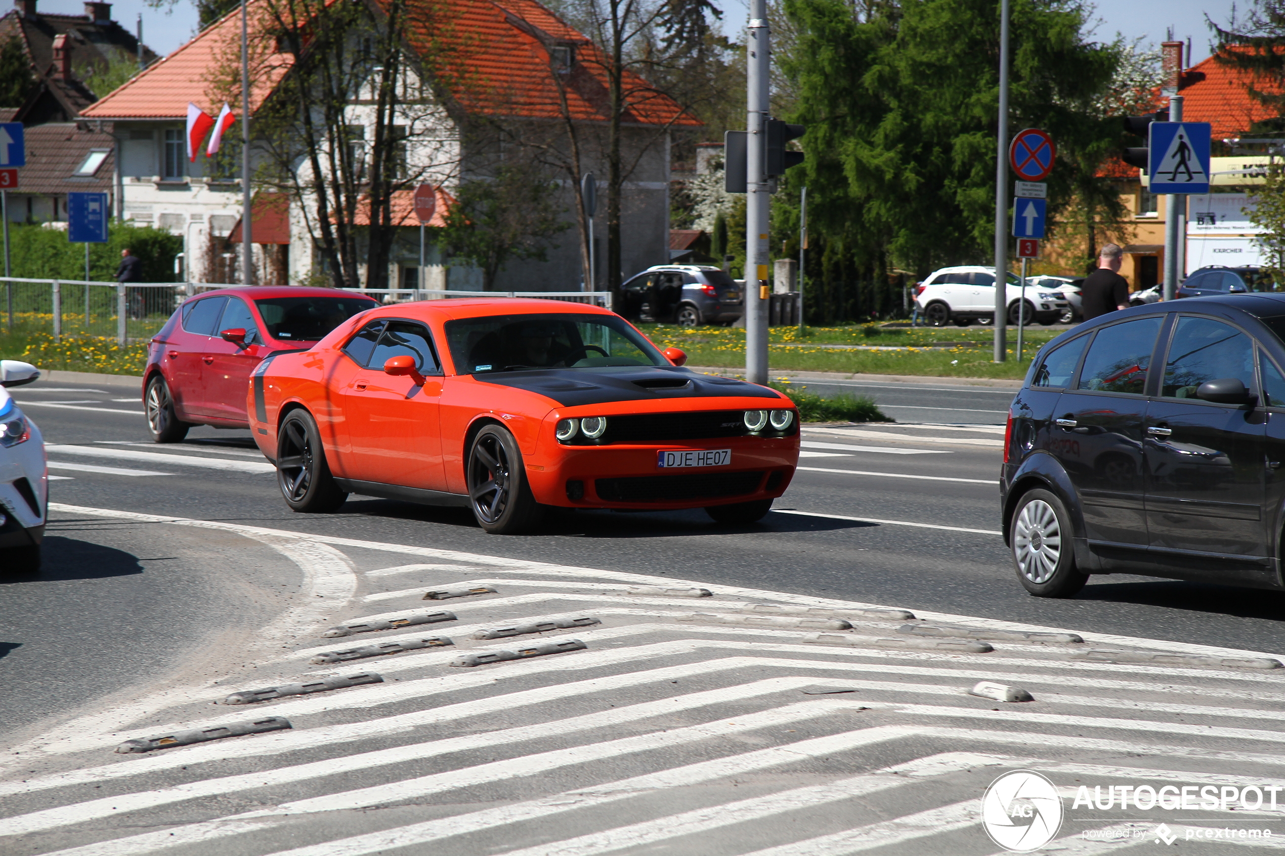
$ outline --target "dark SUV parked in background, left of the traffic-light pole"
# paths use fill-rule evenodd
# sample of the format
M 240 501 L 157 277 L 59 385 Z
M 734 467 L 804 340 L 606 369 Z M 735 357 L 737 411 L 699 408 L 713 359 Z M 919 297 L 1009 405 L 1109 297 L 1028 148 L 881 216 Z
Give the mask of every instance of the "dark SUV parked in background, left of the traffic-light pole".
M 729 325 L 744 312 L 736 280 L 708 264 L 657 264 L 621 286 L 621 307 L 630 321 L 662 321 L 682 327 Z

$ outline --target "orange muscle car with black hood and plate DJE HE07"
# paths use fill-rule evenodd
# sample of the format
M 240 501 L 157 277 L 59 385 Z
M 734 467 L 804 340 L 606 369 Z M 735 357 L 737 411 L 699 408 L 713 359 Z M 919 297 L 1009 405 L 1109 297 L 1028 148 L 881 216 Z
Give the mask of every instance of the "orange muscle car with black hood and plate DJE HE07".
M 798 466 L 798 412 L 685 359 L 596 307 L 402 303 L 263 359 L 247 409 L 294 511 L 357 493 L 468 506 L 502 534 L 549 506 L 759 520 Z

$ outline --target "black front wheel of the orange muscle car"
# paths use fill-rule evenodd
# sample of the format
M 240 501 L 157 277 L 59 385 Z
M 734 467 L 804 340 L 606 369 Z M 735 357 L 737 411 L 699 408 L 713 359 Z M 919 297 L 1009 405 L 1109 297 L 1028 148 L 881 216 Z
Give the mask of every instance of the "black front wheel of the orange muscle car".
M 483 425 L 469 447 L 469 507 L 492 535 L 526 531 L 544 511 L 527 484 L 518 441 L 499 425 Z

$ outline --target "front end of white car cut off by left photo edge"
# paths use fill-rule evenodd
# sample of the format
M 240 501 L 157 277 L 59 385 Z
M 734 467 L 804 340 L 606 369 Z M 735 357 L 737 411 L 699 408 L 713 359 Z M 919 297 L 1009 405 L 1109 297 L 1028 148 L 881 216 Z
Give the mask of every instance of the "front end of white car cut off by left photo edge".
M 5 389 L 39 377 L 35 366 L 0 359 L 0 571 L 5 574 L 40 570 L 49 507 L 45 441 Z

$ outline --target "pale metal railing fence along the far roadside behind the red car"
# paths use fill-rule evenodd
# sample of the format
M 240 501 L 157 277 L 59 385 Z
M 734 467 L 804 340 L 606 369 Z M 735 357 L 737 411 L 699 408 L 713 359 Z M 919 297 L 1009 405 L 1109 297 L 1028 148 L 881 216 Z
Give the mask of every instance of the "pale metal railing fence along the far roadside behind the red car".
M 188 298 L 213 289 L 242 289 L 224 282 L 94 282 L 3 277 L 8 334 L 46 334 L 54 341 L 85 334 L 114 338 L 118 344 L 150 339 Z M 545 298 L 612 308 L 610 291 L 442 291 L 428 289 L 343 289 L 380 303 L 442 298 Z

